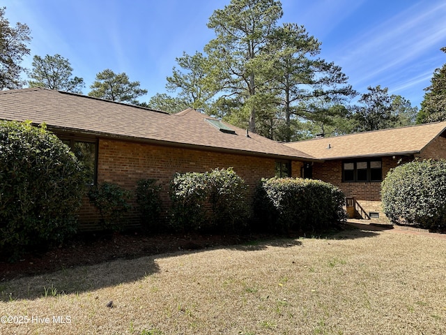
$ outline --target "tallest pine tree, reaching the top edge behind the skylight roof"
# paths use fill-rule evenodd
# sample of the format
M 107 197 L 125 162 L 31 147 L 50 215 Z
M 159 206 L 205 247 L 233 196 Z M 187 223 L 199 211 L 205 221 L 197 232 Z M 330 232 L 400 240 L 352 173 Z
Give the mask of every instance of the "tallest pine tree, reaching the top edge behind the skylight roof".
M 265 50 L 282 14 L 279 1 L 232 0 L 209 18 L 208 27 L 216 36 L 204 48 L 210 86 L 220 91 L 220 96 L 233 96 L 240 103 L 233 112 L 246 116 L 252 133 L 256 133 L 257 117 L 270 110 L 259 95 L 271 96 L 266 83 L 272 54 Z

